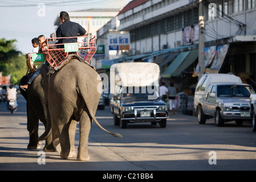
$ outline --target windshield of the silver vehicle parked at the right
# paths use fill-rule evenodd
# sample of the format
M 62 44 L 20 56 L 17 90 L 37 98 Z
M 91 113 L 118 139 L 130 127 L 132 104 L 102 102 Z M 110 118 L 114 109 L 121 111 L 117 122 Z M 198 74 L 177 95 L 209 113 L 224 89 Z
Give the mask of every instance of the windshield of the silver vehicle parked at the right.
M 250 97 L 254 93 L 253 88 L 247 85 L 218 85 L 218 97 Z

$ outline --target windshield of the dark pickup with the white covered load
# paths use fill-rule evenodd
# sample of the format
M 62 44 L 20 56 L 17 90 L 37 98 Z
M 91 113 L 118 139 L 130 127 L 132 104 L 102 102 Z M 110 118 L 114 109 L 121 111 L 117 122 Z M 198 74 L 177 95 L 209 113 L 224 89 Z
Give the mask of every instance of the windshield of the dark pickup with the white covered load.
M 123 99 L 124 100 L 131 100 L 131 99 L 141 99 L 141 98 L 147 98 L 147 99 L 157 99 L 159 98 L 159 92 L 157 92 L 157 90 L 143 90 L 141 88 L 139 89 L 125 89 L 125 92 L 123 92 Z M 149 93 L 150 92 L 150 93 Z

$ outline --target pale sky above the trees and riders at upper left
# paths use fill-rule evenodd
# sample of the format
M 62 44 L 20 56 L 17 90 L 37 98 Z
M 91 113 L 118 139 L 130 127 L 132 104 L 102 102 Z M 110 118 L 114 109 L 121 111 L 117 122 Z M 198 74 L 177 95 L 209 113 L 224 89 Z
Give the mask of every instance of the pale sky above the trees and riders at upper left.
M 31 40 L 39 35 L 50 38 L 60 11 L 92 8 L 120 8 L 129 0 L 0 0 L 0 39 L 16 39 L 22 53 L 32 52 Z

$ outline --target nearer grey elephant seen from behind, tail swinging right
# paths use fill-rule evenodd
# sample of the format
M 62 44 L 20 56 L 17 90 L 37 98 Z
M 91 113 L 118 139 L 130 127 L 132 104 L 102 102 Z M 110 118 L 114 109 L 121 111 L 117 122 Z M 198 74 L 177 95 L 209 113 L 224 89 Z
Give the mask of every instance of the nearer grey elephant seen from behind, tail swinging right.
M 88 137 L 92 120 L 107 133 L 122 137 L 120 134 L 105 130 L 95 118 L 102 90 L 101 78 L 95 69 L 89 64 L 72 58 L 54 74 L 47 73 L 47 67 L 42 67 L 41 85 L 49 111 L 47 119 L 51 119 L 51 126 L 48 125 L 50 122 L 47 122 L 45 135 L 47 136 L 51 127 L 54 146 L 60 143 L 60 158 L 68 159 L 75 155 L 74 140 L 77 122 L 79 122 L 80 133 L 77 160 L 90 160 Z

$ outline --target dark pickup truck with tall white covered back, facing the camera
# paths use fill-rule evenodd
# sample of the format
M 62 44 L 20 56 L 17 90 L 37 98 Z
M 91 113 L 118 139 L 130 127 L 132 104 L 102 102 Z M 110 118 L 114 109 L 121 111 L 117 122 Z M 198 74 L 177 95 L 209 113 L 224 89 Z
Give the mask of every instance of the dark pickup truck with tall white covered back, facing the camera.
M 114 125 L 149 122 L 166 127 L 168 109 L 159 95 L 159 65 L 117 63 L 110 68 L 110 108 Z

